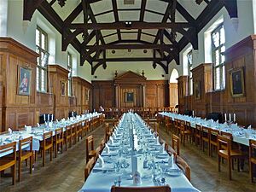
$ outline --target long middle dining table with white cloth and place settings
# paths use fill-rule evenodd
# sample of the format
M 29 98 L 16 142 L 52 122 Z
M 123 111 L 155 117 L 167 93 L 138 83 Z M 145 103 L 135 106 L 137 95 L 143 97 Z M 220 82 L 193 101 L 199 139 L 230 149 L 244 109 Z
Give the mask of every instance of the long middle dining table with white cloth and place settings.
M 136 141 L 131 127 L 137 136 Z M 133 181 L 134 156 L 138 158 L 137 170 L 142 183 Z M 124 113 L 79 192 L 109 192 L 112 185 L 137 187 L 166 184 L 173 192 L 199 191 L 175 163 L 170 165 L 170 158 L 163 150 L 163 144 L 159 143 L 159 137 L 155 137 L 137 113 Z

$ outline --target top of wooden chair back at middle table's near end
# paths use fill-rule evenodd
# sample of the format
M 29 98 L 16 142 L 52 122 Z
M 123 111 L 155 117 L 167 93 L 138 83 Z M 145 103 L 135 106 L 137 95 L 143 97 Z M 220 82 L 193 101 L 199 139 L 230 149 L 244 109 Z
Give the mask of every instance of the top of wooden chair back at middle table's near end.
M 117 187 L 112 186 L 111 192 L 171 192 L 169 185 L 152 187 Z

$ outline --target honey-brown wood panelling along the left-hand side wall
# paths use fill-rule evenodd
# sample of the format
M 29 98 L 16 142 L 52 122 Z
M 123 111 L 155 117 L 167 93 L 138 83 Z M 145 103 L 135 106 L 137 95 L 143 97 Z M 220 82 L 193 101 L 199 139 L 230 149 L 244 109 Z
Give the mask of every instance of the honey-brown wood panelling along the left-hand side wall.
M 67 82 L 67 71 L 57 66 L 49 67 L 50 94 L 40 93 L 36 90 L 37 57 L 37 53 L 14 39 L 0 38 L 0 131 L 6 131 L 9 127 L 15 130 L 24 125 L 36 125 L 41 113 L 54 113 L 57 118 L 67 117 L 70 108 L 68 96 L 60 96 L 59 81 L 63 79 Z M 19 67 L 31 69 L 30 96 L 18 94 Z M 90 89 L 87 82 L 83 83 L 83 86 Z M 77 89 L 76 86 L 74 89 Z M 76 107 L 73 109 L 78 111 L 77 102 L 72 103 Z M 84 103 L 79 105 L 79 108 L 86 109 L 89 106 Z

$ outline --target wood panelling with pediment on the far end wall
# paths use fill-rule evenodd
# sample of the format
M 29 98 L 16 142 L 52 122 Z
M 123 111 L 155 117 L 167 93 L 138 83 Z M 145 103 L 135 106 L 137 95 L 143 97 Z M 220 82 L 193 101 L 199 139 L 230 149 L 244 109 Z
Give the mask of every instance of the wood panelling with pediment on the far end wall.
M 93 108 L 162 108 L 169 107 L 169 84 L 166 80 L 146 80 L 127 72 L 109 81 L 92 81 Z M 133 102 L 125 102 L 125 92 L 134 94 Z

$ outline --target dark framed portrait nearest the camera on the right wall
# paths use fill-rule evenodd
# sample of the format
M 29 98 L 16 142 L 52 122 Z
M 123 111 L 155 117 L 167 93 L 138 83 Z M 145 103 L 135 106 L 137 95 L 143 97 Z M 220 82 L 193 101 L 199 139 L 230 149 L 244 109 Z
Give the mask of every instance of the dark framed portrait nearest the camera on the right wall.
M 230 89 L 233 97 L 245 96 L 243 67 L 230 71 Z

